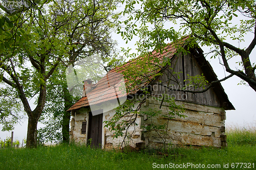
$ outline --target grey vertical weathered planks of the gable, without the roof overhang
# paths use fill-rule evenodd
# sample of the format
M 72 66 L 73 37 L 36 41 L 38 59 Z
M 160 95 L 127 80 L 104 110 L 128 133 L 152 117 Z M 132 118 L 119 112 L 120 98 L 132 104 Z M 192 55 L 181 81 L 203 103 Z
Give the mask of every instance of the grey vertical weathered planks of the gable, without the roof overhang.
M 160 81 L 164 85 L 167 85 L 168 81 L 171 80 L 169 86 L 179 89 L 188 83 L 184 82 L 184 80 L 188 79 L 188 76 L 197 76 L 203 74 L 201 66 L 198 64 L 193 54 L 187 54 L 184 56 L 176 55 L 172 60 L 171 66 L 168 66 L 166 69 L 168 70 L 165 70 L 163 75 L 159 76 L 153 84 L 157 84 Z M 153 85 L 152 87 L 153 94 L 155 95 L 165 93 L 165 88 L 161 85 Z M 203 90 L 203 88 L 196 90 Z M 174 97 L 176 100 L 220 107 L 220 101 L 213 89 L 209 89 L 203 93 L 194 94 L 189 92 L 168 90 L 166 93 L 169 96 Z

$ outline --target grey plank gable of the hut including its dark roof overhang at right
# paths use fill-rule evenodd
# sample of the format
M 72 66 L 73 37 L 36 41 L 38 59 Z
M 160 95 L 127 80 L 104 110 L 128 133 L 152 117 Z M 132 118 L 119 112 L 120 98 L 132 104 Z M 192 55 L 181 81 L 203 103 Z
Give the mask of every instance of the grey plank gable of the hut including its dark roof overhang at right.
M 176 72 L 177 74 L 174 74 Z M 205 60 L 201 48 L 194 48 L 190 50 L 190 53 L 185 55 L 176 55 L 173 57 L 171 65 L 166 67 L 162 71 L 163 75 L 159 76 L 153 84 L 157 84 L 159 81 L 164 85 L 167 85 L 168 80 L 169 85 L 174 89 L 179 89 L 180 86 L 184 87 L 186 82 L 184 80 L 188 79 L 189 76 L 202 75 L 205 76 L 206 80 L 210 83 L 216 81 L 217 76 L 212 70 L 209 63 Z M 175 81 L 178 81 L 176 83 Z M 209 84 L 208 83 L 208 84 Z M 166 88 L 163 86 L 158 86 L 158 88 L 153 88 L 153 94 L 163 94 L 166 93 L 169 96 L 175 98 L 175 100 L 203 104 L 215 107 L 224 107 L 226 110 L 233 110 L 234 107 L 228 101 L 227 95 L 224 92 L 220 83 L 216 83 L 215 86 L 203 93 L 191 93 L 183 91 L 165 91 Z M 203 90 L 203 88 L 196 89 Z

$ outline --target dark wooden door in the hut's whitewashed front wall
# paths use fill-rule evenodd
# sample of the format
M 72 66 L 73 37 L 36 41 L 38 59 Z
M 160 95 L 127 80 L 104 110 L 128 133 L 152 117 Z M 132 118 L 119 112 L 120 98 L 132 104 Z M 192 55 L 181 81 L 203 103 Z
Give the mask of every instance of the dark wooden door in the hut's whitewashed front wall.
M 92 112 L 89 112 L 88 143 L 91 140 L 91 147 L 93 148 L 101 148 L 102 117 L 103 113 L 93 116 Z

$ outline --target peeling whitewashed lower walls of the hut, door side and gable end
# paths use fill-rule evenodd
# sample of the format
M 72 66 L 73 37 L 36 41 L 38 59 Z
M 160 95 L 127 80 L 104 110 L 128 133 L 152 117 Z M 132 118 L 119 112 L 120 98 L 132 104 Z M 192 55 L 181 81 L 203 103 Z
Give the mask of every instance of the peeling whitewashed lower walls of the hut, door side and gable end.
M 151 120 L 151 118 L 147 118 L 142 115 L 142 112 L 147 111 L 149 108 L 159 109 L 161 101 L 154 100 L 152 98 L 147 102 L 147 105 L 142 105 L 140 108 L 141 114 L 138 115 L 136 119 L 137 126 L 132 126 L 128 130 L 129 134 L 132 134 L 132 140 L 129 140 L 129 142 L 126 144 L 130 144 L 134 148 L 136 148 L 136 143 L 142 142 L 151 148 L 162 147 L 163 145 L 163 141 L 156 131 L 145 131 L 144 126 L 151 123 L 163 125 L 167 121 L 165 117 L 160 115 L 159 117 L 154 117 Z M 185 117 L 175 116 L 175 118 L 169 121 L 166 143 L 193 146 L 204 145 L 206 147 L 226 146 L 226 139 L 224 135 L 225 110 L 223 108 L 186 103 L 182 101 L 176 101 L 176 103 L 178 105 L 183 105 L 185 108 L 183 113 Z M 104 109 L 104 107 L 101 105 L 98 107 L 98 109 Z M 162 111 L 162 114 L 167 114 L 168 109 L 164 104 L 160 110 Z M 71 126 L 70 132 L 71 140 L 80 143 L 87 142 L 89 123 L 87 123 L 86 134 L 81 134 L 81 128 L 82 122 L 88 122 L 88 114 L 88 109 L 80 109 L 74 114 L 74 127 Z M 104 127 L 104 121 L 110 120 L 114 114 L 115 110 L 109 110 L 103 113 L 102 149 L 121 147 L 123 137 L 119 136 L 118 138 L 113 138 L 114 132 L 111 132 L 108 128 Z

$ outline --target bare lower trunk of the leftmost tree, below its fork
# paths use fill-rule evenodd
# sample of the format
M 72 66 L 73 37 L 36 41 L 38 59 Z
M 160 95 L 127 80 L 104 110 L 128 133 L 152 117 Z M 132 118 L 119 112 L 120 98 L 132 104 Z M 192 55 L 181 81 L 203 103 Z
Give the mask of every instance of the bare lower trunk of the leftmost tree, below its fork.
M 28 133 L 27 133 L 27 148 L 36 148 L 37 147 L 37 116 L 29 116 L 28 122 Z

